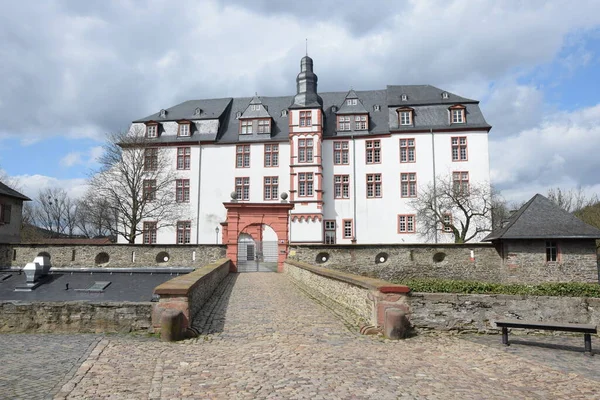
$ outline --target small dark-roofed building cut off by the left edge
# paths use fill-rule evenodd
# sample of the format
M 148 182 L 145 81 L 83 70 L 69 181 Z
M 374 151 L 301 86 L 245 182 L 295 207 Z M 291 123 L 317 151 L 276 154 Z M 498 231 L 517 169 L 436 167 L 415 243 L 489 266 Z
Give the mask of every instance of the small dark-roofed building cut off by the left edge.
M 0 182 L 0 243 L 21 241 L 24 201 L 31 199 Z

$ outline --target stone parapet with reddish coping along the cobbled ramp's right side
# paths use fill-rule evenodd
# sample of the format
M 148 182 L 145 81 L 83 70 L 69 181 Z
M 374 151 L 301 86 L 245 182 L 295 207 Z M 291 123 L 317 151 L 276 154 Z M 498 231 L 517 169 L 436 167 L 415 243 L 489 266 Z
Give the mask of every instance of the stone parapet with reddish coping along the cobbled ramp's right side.
M 341 308 L 340 314 L 356 316 L 354 325 L 381 327 L 388 308 L 410 312 L 406 286 L 291 260 L 284 263 L 284 272 L 306 292 L 317 298 L 324 297 Z

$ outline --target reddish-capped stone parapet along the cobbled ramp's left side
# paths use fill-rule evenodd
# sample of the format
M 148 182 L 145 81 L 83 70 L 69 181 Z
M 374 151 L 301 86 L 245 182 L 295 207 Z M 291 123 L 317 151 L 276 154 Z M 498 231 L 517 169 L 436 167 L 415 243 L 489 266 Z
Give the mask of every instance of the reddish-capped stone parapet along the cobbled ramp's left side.
M 230 268 L 231 260 L 222 258 L 157 286 L 154 294 L 159 295 L 160 299 L 152 311 L 153 327 L 160 328 L 165 310 L 176 310 L 183 314 L 181 331 L 185 332 L 192 326 L 194 316 L 229 274 Z

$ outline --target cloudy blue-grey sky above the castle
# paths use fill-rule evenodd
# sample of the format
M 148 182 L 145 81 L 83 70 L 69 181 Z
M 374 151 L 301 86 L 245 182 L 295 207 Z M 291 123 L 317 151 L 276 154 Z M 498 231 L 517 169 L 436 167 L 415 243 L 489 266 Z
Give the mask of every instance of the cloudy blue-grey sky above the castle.
M 600 1 L 0 0 L 0 169 L 73 195 L 105 135 L 189 99 L 432 84 L 481 101 L 506 198 L 600 193 Z M 8 12 L 10 10 L 10 12 Z

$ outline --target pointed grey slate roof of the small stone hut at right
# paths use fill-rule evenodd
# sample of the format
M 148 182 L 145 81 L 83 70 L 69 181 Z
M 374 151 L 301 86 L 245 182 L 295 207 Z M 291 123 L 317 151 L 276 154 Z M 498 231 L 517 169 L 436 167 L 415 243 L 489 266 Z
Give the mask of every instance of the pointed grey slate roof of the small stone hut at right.
M 504 227 L 494 230 L 483 241 L 505 239 L 600 239 L 600 229 L 536 194 Z

